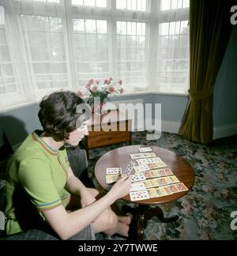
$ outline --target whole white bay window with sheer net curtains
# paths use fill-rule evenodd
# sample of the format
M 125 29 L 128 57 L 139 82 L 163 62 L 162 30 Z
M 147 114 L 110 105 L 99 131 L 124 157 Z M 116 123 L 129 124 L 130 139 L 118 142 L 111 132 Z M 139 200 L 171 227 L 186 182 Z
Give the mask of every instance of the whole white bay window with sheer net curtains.
M 0 5 L 1 107 L 13 106 L 6 103 L 10 93 L 21 103 L 35 101 L 61 88 L 83 90 L 90 78 L 122 79 L 125 93 L 188 90 L 189 0 Z

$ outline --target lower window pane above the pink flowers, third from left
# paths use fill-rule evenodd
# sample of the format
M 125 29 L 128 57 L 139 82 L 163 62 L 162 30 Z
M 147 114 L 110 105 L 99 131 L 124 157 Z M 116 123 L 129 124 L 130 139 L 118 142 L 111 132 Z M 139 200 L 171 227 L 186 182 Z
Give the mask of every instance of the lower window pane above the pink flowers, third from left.
M 110 76 L 107 21 L 73 20 L 78 85 Z

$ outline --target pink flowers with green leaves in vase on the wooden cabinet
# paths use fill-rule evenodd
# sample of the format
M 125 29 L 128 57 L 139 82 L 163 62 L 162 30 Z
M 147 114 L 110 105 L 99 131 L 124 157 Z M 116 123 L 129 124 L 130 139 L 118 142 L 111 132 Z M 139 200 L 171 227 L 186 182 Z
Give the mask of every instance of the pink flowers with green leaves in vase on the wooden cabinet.
M 113 78 L 110 77 L 103 81 L 103 84 L 99 80 L 90 79 L 85 85 L 88 92 L 88 104 L 94 105 L 95 98 L 100 102 L 100 109 L 102 108 L 104 101 L 107 100 L 107 96 L 113 93 L 122 94 L 124 89 L 122 88 L 122 80 L 114 82 Z M 84 96 L 84 93 L 78 91 L 79 96 Z M 97 106 L 98 107 L 98 106 Z

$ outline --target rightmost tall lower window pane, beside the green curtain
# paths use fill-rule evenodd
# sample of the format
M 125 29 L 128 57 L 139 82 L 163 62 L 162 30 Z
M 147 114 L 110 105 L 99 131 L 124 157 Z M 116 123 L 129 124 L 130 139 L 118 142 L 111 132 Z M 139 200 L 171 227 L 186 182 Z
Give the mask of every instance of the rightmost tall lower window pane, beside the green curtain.
M 160 24 L 159 84 L 164 91 L 182 92 L 188 84 L 189 26 L 188 21 Z

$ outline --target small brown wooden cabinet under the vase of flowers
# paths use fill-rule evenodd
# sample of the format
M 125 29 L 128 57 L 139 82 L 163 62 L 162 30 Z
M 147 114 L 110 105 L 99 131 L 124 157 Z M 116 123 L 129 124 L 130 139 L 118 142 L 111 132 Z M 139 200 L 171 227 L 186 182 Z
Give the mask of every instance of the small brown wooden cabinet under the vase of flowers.
M 105 115 L 92 115 L 88 125 L 89 134 L 85 137 L 85 149 L 96 149 L 106 145 L 126 142 L 131 145 L 131 120 L 119 111 Z

